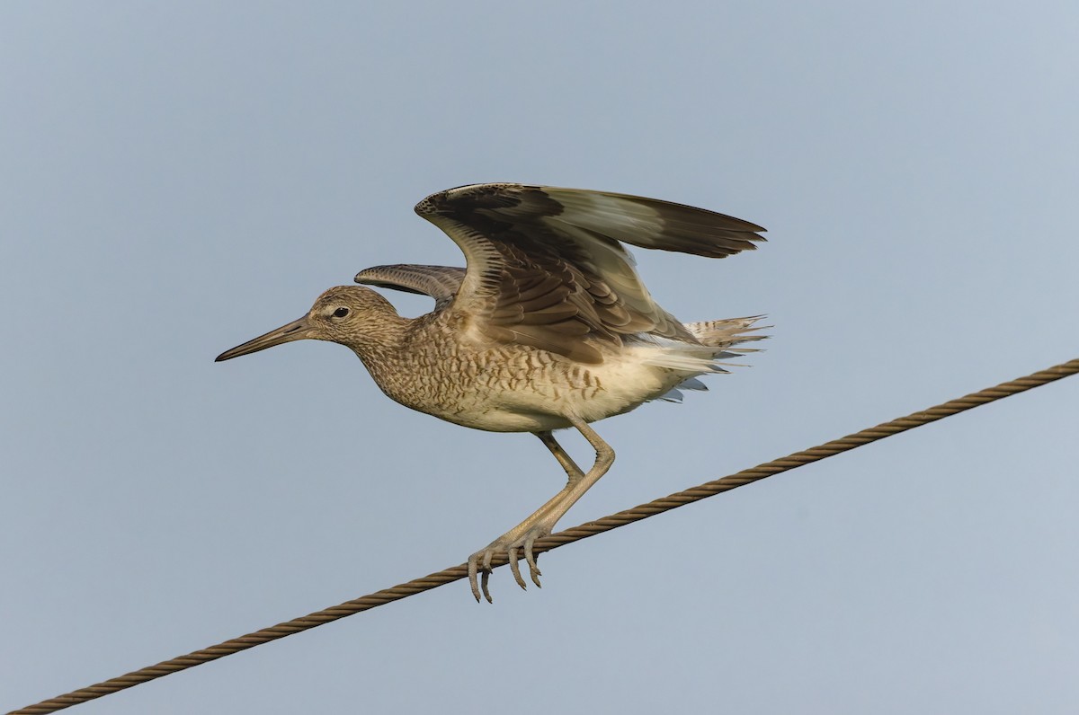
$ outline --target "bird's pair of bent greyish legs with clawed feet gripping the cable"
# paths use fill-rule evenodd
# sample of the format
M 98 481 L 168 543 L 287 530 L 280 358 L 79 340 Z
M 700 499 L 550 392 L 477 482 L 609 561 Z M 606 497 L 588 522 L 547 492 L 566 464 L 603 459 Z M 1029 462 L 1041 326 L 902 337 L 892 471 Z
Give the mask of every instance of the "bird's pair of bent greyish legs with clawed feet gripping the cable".
M 570 417 L 569 420 L 570 424 L 584 435 L 585 439 L 592 445 L 592 449 L 596 450 L 596 462 L 587 473 L 583 472 L 570 455 L 565 453 L 562 445 L 555 440 L 554 435 L 549 431 L 536 432 L 536 437 L 550 450 L 550 453 L 558 459 L 558 463 L 565 469 L 569 480 L 558 494 L 536 509 L 528 519 L 500 536 L 482 551 L 478 551 L 468 558 L 468 581 L 472 585 L 473 595 L 476 596 L 477 601 L 480 600 L 480 583 L 477 582 L 477 576 L 482 573 L 483 597 L 489 603 L 492 602 L 491 593 L 488 590 L 488 580 L 491 576 L 491 562 L 494 554 L 504 549 L 508 552 L 514 578 L 520 587 L 522 589 L 527 588 L 517 563 L 517 554 L 520 549 L 524 551 L 524 560 L 529 564 L 532 581 L 536 586 L 540 586 L 540 569 L 536 567 L 535 555 L 532 552 L 532 547 L 536 539 L 550 534 L 558 520 L 577 503 L 577 499 L 584 496 L 585 492 L 599 481 L 600 477 L 606 473 L 612 463 L 614 463 L 614 450 L 596 434 L 596 430 L 588 423 L 577 417 Z

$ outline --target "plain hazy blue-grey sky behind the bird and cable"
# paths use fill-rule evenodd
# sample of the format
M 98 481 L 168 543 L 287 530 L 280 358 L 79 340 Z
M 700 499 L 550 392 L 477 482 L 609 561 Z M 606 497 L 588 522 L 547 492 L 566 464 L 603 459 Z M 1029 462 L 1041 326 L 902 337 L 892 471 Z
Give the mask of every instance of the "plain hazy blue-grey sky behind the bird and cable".
M 1079 357 L 1079 5 L 0 5 L 0 709 L 461 563 L 562 484 L 346 349 L 221 350 L 513 180 L 768 228 L 637 250 L 768 350 L 598 425 L 562 527 Z M 393 294 L 409 314 L 429 301 Z M 1074 713 L 1079 379 L 78 706 Z M 588 459 L 579 438 L 568 443 Z

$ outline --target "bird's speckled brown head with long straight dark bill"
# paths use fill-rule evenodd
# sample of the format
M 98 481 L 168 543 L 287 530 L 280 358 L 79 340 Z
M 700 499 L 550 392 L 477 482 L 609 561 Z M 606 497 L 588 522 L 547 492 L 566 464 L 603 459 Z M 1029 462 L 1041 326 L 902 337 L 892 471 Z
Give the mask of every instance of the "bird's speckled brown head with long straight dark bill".
M 217 356 L 215 362 L 258 353 L 296 340 L 326 340 L 357 353 L 380 342 L 400 318 L 385 298 L 360 286 L 336 286 L 315 300 L 308 314 Z

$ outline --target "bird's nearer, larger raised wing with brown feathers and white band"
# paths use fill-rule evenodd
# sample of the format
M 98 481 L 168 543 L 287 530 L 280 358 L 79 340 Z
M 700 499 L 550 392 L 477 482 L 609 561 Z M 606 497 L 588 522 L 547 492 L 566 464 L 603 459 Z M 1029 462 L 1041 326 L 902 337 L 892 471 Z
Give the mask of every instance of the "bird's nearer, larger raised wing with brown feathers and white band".
M 450 189 L 415 211 L 465 255 L 452 310 L 490 340 L 582 362 L 633 333 L 696 342 L 652 300 L 619 242 L 724 258 L 764 239 L 761 226 L 682 204 L 516 183 Z

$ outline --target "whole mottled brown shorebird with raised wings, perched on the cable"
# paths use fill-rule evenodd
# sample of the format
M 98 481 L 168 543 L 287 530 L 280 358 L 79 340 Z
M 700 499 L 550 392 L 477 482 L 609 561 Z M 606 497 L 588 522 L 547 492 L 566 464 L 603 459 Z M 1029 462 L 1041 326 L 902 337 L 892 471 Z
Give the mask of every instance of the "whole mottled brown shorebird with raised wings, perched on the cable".
M 356 283 L 435 299 L 405 318 L 380 293 L 330 288 L 299 320 L 226 350 L 218 361 L 296 340 L 352 348 L 383 393 L 457 425 L 532 432 L 565 470 L 565 486 L 528 519 L 468 558 L 476 601 L 491 602 L 496 554 L 514 578 L 521 554 L 540 586 L 533 547 L 602 477 L 614 450 L 590 423 L 651 400 L 707 389 L 752 352 L 761 316 L 678 320 L 652 299 L 623 244 L 725 258 L 764 240 L 759 225 L 713 211 L 625 194 L 518 183 L 478 183 L 427 196 L 415 212 L 453 239 L 467 267 L 380 265 Z M 554 431 L 574 428 L 596 450 L 581 469 Z M 481 575 L 481 585 L 477 576 Z

